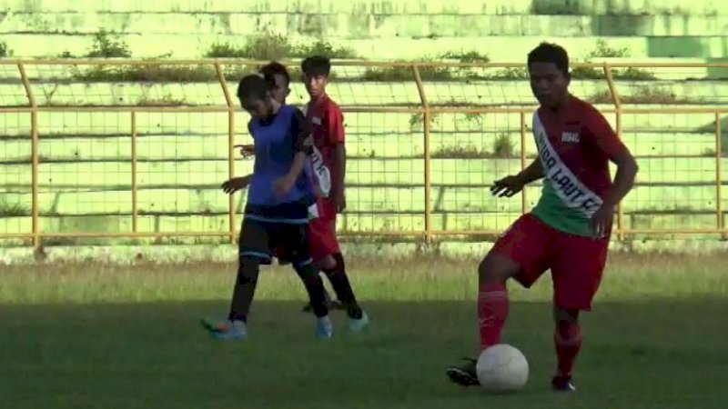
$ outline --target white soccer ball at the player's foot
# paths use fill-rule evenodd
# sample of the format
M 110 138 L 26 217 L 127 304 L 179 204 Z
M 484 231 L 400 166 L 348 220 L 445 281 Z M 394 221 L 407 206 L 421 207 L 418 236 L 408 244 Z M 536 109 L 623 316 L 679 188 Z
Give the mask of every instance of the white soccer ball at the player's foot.
M 509 344 L 496 344 L 480 354 L 475 371 L 478 382 L 487 391 L 516 392 L 529 379 L 529 362 L 518 348 Z

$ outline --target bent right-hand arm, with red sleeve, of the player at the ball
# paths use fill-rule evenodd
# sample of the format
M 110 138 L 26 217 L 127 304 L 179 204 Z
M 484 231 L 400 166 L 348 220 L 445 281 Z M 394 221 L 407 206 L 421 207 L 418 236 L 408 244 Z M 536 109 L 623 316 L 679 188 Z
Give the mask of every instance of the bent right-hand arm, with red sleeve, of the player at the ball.
M 630 150 L 622 144 L 622 141 L 602 114 L 594 110 L 589 124 L 588 135 L 591 135 L 594 143 L 602 150 L 604 155 L 614 165 L 617 165 L 617 173 L 614 175 L 612 187 L 602 195 L 604 206 L 613 207 L 619 204 L 624 196 L 632 190 L 639 166 Z

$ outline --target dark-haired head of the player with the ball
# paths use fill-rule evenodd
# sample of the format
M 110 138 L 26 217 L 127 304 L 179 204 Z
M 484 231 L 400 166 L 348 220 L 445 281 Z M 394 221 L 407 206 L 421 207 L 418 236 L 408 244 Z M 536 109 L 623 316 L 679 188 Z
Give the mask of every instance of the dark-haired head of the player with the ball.
M 560 45 L 541 43 L 529 53 L 531 90 L 539 103 L 550 108 L 565 104 L 569 95 L 569 55 Z

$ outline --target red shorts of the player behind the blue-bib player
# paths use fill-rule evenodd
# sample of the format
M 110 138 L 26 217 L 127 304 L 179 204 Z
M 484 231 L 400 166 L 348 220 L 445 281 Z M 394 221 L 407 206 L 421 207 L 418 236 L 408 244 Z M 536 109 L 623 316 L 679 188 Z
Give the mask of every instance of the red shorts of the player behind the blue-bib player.
M 336 237 L 336 205 L 328 198 L 319 198 L 316 201 L 319 217 L 311 220 L 306 228 L 308 253 L 314 261 L 323 260 L 331 254 L 341 253 L 339 240 Z M 279 264 L 290 262 L 286 249 L 276 248 L 273 255 L 278 258 Z

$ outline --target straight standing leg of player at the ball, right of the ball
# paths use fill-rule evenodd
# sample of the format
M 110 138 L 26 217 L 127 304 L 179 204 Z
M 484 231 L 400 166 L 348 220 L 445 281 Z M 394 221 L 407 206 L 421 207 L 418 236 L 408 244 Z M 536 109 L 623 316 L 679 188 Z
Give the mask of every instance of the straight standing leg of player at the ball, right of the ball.
M 551 269 L 553 278 L 553 343 L 557 367 L 551 386 L 557 391 L 574 391 L 571 377 L 581 350 L 580 312 L 591 310 L 606 264 L 609 239 L 592 239 L 560 234 L 558 257 Z

